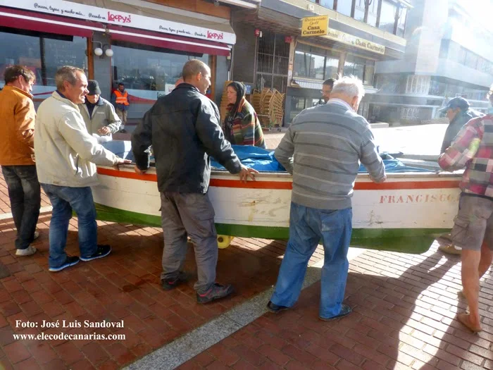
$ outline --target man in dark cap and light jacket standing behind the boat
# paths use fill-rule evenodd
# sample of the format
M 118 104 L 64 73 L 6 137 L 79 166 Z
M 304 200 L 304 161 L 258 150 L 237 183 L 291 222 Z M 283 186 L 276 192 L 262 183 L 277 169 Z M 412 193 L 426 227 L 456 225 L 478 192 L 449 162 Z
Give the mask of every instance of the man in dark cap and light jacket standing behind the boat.
M 122 121 L 113 105 L 101 97 L 99 83 L 96 80 L 87 81 L 87 90 L 89 94 L 86 95 L 85 103 L 78 104 L 87 132 L 96 137 L 98 142 L 112 140 L 111 134 L 120 130 Z

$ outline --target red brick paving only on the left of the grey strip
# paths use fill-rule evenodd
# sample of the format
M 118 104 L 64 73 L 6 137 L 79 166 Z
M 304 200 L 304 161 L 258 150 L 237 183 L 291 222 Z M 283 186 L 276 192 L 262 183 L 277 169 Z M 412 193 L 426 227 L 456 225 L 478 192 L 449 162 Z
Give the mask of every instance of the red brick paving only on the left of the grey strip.
M 6 187 L 0 178 L 4 202 L 10 212 Z M 46 200 L 46 199 L 45 199 Z M 233 240 L 220 250 L 218 280 L 233 283 L 237 294 L 208 304 L 196 304 L 193 282 L 172 292 L 160 288 L 162 232 L 99 222 L 99 242 L 111 244 L 109 257 L 50 273 L 48 230 L 51 214 L 39 217 L 39 252 L 15 257 L 12 219 L 0 220 L 0 264 L 11 276 L 0 280 L 0 369 L 119 369 L 178 336 L 206 323 L 227 309 L 266 290 L 275 283 L 285 242 L 261 239 Z M 194 271 L 193 248 L 185 269 Z M 78 255 L 77 219 L 70 221 L 68 254 Z M 322 254 L 319 250 L 315 262 Z M 232 268 L 234 266 L 234 268 Z M 13 339 L 13 333 L 40 333 L 39 329 L 15 328 L 15 320 L 67 322 L 118 321 L 125 328 L 96 329 L 96 333 L 123 333 L 121 341 L 35 341 Z M 46 333 L 60 333 L 50 329 Z M 66 333 L 93 333 L 94 329 L 65 329 Z M 2 367 L 3 366 L 3 367 Z

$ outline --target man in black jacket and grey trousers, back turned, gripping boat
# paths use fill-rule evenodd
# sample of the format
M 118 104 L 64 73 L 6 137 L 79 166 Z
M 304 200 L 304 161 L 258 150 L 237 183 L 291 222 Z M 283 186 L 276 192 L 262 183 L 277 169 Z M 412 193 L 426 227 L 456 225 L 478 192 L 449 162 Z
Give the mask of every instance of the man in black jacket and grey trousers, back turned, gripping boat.
M 216 283 L 218 242 L 214 209 L 207 190 L 213 156 L 230 173 L 246 181 L 256 171 L 246 168 L 220 128 L 216 104 L 204 94 L 211 85 L 211 69 L 192 59 L 183 67 L 183 80 L 170 94 L 160 97 L 132 135 L 135 171 L 149 168 L 149 147 L 156 159 L 161 192 L 161 225 L 165 246 L 161 285 L 170 290 L 188 280 L 182 271 L 187 235 L 194 241 L 199 303 L 230 295 L 231 285 Z

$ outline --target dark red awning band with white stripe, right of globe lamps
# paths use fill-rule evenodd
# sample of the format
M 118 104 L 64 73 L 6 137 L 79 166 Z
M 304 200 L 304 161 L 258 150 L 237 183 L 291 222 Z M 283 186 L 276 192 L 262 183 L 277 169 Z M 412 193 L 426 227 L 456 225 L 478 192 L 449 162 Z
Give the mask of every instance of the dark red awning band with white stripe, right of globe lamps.
M 230 47 L 220 42 L 168 35 L 161 32 L 137 30 L 135 28 L 117 25 L 108 25 L 108 29 L 113 40 L 150 45 L 164 49 L 188 51 L 197 54 L 230 55 Z

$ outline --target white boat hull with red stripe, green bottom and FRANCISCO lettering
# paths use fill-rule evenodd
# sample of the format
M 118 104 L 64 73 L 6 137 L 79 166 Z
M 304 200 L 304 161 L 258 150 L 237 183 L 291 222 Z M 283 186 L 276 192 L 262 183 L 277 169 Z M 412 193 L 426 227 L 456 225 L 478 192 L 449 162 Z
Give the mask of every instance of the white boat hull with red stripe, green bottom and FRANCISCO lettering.
M 99 166 L 98 177 L 93 195 L 99 220 L 161 227 L 154 167 L 138 175 L 133 166 Z M 460 180 L 460 173 L 404 172 L 387 173 L 385 183 L 375 184 L 368 174 L 358 174 L 351 246 L 425 252 L 453 226 Z M 288 173 L 259 173 L 256 181 L 242 183 L 237 175 L 213 171 L 209 197 L 218 246 L 227 247 L 235 236 L 287 239 L 291 190 Z

